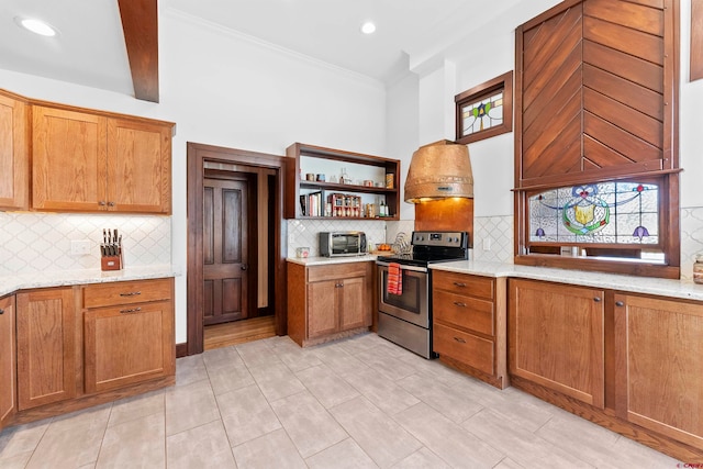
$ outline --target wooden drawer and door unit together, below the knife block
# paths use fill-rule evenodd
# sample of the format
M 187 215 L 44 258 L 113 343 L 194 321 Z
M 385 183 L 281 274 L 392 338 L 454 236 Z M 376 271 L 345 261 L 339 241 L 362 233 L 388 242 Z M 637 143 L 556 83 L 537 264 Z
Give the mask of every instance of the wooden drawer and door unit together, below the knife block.
M 176 372 L 171 279 L 81 287 L 86 393 Z

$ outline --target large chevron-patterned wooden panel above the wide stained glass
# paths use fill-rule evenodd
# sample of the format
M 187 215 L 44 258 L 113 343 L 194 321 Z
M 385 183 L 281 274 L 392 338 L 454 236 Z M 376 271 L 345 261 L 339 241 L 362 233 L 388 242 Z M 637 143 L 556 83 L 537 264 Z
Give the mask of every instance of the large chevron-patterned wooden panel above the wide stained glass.
M 517 188 L 678 168 L 674 2 L 565 1 L 517 27 Z

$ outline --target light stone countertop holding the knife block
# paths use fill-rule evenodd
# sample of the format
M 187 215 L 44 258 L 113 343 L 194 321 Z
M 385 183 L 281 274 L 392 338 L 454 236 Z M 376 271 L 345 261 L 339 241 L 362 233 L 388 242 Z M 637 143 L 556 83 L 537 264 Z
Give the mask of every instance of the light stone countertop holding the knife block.
M 0 277 L 0 297 L 32 288 L 65 287 L 87 283 L 107 283 L 127 280 L 148 280 L 178 277 L 171 265 L 127 267 L 122 270 L 100 269 L 59 270 Z

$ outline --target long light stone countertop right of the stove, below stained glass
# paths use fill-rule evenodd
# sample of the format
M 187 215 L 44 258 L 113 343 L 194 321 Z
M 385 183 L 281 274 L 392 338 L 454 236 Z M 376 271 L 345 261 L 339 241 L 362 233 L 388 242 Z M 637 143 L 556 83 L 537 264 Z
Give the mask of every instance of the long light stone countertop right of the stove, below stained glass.
M 692 280 L 670 280 L 477 260 L 456 260 L 451 263 L 433 264 L 431 268 L 434 270 L 471 273 L 483 277 L 545 280 L 580 287 L 604 288 L 631 293 L 646 293 L 703 301 L 703 284 L 694 283 Z

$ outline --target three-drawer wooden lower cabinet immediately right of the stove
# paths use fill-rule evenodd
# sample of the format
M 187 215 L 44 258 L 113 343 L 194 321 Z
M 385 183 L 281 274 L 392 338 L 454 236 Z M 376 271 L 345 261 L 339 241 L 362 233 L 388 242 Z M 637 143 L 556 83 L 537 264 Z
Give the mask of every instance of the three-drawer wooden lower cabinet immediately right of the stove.
M 433 349 L 447 365 L 509 386 L 504 278 L 433 270 Z

